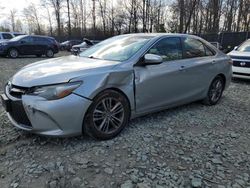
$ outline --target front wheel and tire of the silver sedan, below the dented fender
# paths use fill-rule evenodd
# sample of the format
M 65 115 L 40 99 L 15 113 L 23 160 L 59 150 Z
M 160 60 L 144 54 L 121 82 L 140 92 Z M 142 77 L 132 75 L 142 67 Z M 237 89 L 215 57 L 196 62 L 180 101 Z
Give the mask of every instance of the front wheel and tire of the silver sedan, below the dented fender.
M 94 98 L 84 118 L 83 132 L 98 140 L 108 140 L 117 136 L 129 119 L 129 101 L 123 94 L 108 89 Z

